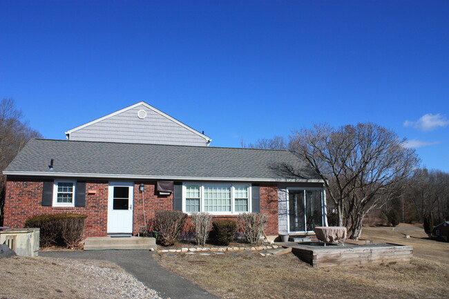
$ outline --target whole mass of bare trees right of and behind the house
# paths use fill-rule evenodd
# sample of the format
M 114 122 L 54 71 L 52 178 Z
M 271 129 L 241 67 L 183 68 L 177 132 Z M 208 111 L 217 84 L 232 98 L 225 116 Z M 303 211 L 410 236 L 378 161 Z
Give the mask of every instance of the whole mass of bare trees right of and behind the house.
M 325 182 L 328 219 L 357 239 L 366 215 L 399 214 L 403 222 L 421 223 L 428 215 L 437 223 L 449 219 L 449 173 L 419 168 L 417 153 L 404 144 L 393 131 L 363 123 L 316 125 L 288 141 L 276 136 L 247 147 L 285 149 L 303 160 Z M 300 169 L 278 168 L 288 177 L 301 175 Z

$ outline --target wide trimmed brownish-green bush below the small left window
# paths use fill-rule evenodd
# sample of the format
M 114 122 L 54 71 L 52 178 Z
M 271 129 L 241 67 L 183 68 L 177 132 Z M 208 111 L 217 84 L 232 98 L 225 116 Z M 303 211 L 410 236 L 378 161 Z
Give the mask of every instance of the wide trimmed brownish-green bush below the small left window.
M 25 227 L 39 227 L 41 247 L 64 244 L 77 248 L 84 238 L 86 218 L 87 215 L 72 213 L 36 215 L 26 220 Z

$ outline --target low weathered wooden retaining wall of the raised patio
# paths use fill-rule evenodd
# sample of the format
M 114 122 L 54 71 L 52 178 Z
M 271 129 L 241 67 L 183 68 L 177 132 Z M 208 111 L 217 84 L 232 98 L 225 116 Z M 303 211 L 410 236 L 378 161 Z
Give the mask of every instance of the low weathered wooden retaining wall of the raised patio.
M 292 252 L 300 260 L 313 267 L 361 266 L 365 264 L 388 264 L 390 262 L 410 262 L 412 246 L 385 244 L 385 247 L 355 247 L 338 249 L 305 249 L 294 247 Z

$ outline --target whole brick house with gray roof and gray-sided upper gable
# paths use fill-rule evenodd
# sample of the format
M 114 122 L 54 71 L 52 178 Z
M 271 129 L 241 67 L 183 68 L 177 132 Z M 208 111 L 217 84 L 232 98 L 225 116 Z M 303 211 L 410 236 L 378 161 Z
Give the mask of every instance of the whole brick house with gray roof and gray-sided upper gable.
M 3 171 L 5 226 L 70 212 L 88 215 L 87 236 L 135 235 L 155 211 L 171 209 L 228 219 L 266 213 L 267 235 L 326 225 L 323 181 L 288 151 L 211 147 L 144 102 L 66 136 L 30 140 Z

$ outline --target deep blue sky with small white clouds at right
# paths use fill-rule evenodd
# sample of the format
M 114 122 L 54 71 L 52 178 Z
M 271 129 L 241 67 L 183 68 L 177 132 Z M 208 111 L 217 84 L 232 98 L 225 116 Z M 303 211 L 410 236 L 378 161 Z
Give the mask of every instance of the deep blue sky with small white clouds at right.
M 449 171 L 449 1 L 0 0 L 0 97 L 46 138 L 140 101 L 240 146 L 374 122 Z

